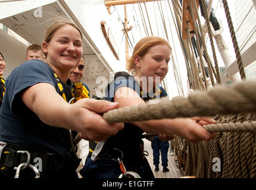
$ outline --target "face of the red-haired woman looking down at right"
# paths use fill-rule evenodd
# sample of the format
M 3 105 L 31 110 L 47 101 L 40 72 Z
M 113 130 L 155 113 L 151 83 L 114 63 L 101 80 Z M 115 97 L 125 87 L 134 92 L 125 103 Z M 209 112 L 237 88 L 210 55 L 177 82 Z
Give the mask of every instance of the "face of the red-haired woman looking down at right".
M 136 76 L 144 76 L 148 81 L 152 79 L 154 86 L 160 84 L 168 72 L 170 54 L 170 48 L 167 45 L 160 44 L 152 46 L 142 57 L 135 56 Z

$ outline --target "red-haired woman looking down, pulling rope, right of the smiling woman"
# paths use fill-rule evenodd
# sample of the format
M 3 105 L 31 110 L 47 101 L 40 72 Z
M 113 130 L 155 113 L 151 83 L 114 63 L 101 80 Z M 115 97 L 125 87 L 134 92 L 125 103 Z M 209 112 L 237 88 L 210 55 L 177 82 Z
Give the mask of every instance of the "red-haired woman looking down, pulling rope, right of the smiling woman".
M 160 83 L 168 72 L 170 55 L 171 47 L 161 37 L 148 36 L 139 40 L 128 64 L 128 71 L 133 72 L 134 76 L 126 74 L 111 81 L 105 99 L 126 107 L 166 97 L 167 93 Z M 126 123 L 124 129 L 105 141 L 101 151 L 96 151 L 98 154 L 95 157 L 94 150 L 90 151 L 83 169 L 83 178 L 118 178 L 124 173 L 122 166 L 141 178 L 154 178 L 143 156 L 143 132 L 158 134 L 161 140 L 169 141 L 179 135 L 197 143 L 216 137 L 216 134 L 202 128 L 204 124 L 216 124 L 216 121 L 210 117 L 195 117 Z

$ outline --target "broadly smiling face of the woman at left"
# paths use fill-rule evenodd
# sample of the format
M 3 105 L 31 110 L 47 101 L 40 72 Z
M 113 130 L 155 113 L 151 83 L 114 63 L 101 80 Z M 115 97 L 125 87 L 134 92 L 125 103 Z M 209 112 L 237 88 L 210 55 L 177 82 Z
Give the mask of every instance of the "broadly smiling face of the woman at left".
M 58 77 L 69 74 L 82 58 L 82 36 L 79 31 L 65 24 L 55 31 L 49 42 L 43 42 L 46 62 L 57 72 Z

